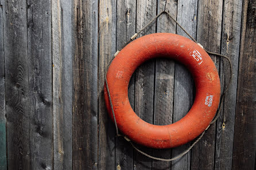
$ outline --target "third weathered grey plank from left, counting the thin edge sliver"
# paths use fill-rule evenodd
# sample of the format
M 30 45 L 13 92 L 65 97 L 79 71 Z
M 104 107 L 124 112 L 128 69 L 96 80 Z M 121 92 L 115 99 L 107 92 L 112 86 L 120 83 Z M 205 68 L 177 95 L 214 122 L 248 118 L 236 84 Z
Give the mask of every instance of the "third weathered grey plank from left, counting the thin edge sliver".
M 27 1 L 31 169 L 52 169 L 51 1 Z

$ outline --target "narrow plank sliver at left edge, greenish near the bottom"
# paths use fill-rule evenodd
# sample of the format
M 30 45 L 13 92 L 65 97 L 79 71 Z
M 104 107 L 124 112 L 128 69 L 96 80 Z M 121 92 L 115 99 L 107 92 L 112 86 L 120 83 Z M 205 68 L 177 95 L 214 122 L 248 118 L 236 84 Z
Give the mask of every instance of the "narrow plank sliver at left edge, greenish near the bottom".
M 5 112 L 5 52 L 3 50 L 3 3 L 0 0 L 0 169 L 7 169 Z

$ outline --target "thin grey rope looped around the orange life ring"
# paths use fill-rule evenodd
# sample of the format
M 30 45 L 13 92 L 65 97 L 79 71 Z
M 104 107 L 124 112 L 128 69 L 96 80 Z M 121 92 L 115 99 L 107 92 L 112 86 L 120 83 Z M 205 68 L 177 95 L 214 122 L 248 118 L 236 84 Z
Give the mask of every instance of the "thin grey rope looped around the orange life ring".
M 165 6 L 166 6 L 166 2 L 165 2 Z M 138 151 L 139 153 L 141 153 L 142 155 L 145 155 L 151 159 L 154 159 L 154 160 L 160 160 L 160 161 L 173 161 L 173 160 L 176 160 L 176 159 L 179 159 L 180 157 L 184 156 L 185 154 L 187 154 L 195 145 L 196 143 L 198 143 L 200 141 L 200 139 L 204 136 L 204 133 L 205 131 L 207 131 L 207 129 L 210 127 L 211 124 L 214 124 L 216 122 L 216 120 L 218 120 L 219 116 L 220 116 L 220 111 L 222 110 L 223 108 L 223 102 L 224 102 L 224 97 L 226 96 L 226 93 L 228 91 L 228 89 L 230 88 L 230 85 L 232 83 L 232 78 L 233 78 L 233 70 L 232 70 L 232 64 L 231 64 L 231 60 L 230 58 L 228 58 L 227 56 L 224 56 L 222 54 L 218 54 L 218 53 L 214 53 L 214 52 L 210 52 L 208 50 L 205 50 L 203 48 L 203 46 L 201 46 L 201 48 L 203 48 L 205 50 L 205 52 L 207 52 L 208 54 L 212 54 L 212 55 L 215 55 L 215 56 L 219 56 L 219 57 L 223 57 L 225 58 L 227 61 L 228 61 L 228 64 L 230 66 L 230 80 L 228 81 L 228 84 L 226 86 L 226 88 L 224 89 L 223 93 L 222 93 L 222 97 L 220 98 L 220 105 L 219 105 L 219 110 L 218 112 L 216 113 L 215 115 L 215 118 L 211 121 L 210 125 L 207 126 L 207 128 L 204 130 L 203 133 L 201 133 L 201 135 L 199 137 L 197 137 L 197 139 L 192 143 L 192 145 L 187 149 L 185 150 L 184 152 L 180 153 L 179 155 L 177 155 L 176 157 L 173 157 L 172 159 L 162 159 L 162 158 L 159 158 L 159 157 L 154 157 L 154 156 L 151 156 L 151 155 L 148 155 L 147 153 L 141 151 L 140 149 L 138 149 L 137 147 L 135 147 L 135 145 L 133 144 L 133 142 L 128 139 L 126 136 L 123 136 L 121 134 L 119 134 L 118 132 L 118 126 L 117 126 L 117 120 L 115 119 L 115 113 L 114 113 L 114 108 L 113 108 L 113 104 L 112 104 L 112 101 L 111 101 L 111 96 L 110 96 L 110 91 L 109 91 L 109 88 L 108 88 L 108 84 L 107 84 L 107 70 L 111 64 L 111 62 L 114 60 L 115 56 L 117 56 L 117 54 L 127 45 L 129 44 L 131 41 L 133 41 L 139 33 L 141 33 L 143 30 L 146 29 L 146 27 L 148 27 L 152 22 L 154 22 L 154 20 L 156 20 L 158 17 L 160 17 L 162 14 L 167 14 L 194 42 L 196 42 L 199 46 L 201 46 L 195 38 L 193 38 L 185 29 L 183 26 L 180 25 L 179 22 L 176 21 L 176 19 L 174 19 L 172 17 L 172 15 L 170 15 L 167 11 L 165 11 L 165 9 L 163 11 L 161 11 L 161 13 L 159 13 L 158 15 L 156 15 L 156 17 L 154 17 L 146 26 L 144 26 L 141 30 L 139 30 L 137 33 L 135 33 L 130 39 L 129 41 L 126 42 L 125 45 L 122 46 L 121 49 L 119 49 L 113 56 L 113 58 L 110 60 L 110 62 L 108 63 L 107 67 L 106 67 L 106 70 L 104 72 L 104 80 L 106 82 L 106 88 L 107 88 L 107 93 L 108 93 L 108 98 L 109 98 L 109 101 L 110 101 L 110 106 L 111 106 L 111 112 L 113 114 L 113 118 L 114 118 L 114 123 L 115 123 L 115 131 L 117 133 L 117 136 L 122 136 L 124 137 L 127 141 L 129 141 L 129 143 L 131 144 L 131 146 L 136 150 Z M 225 121 L 226 121 L 226 117 L 224 117 L 223 119 L 223 125 L 222 126 L 225 126 Z

